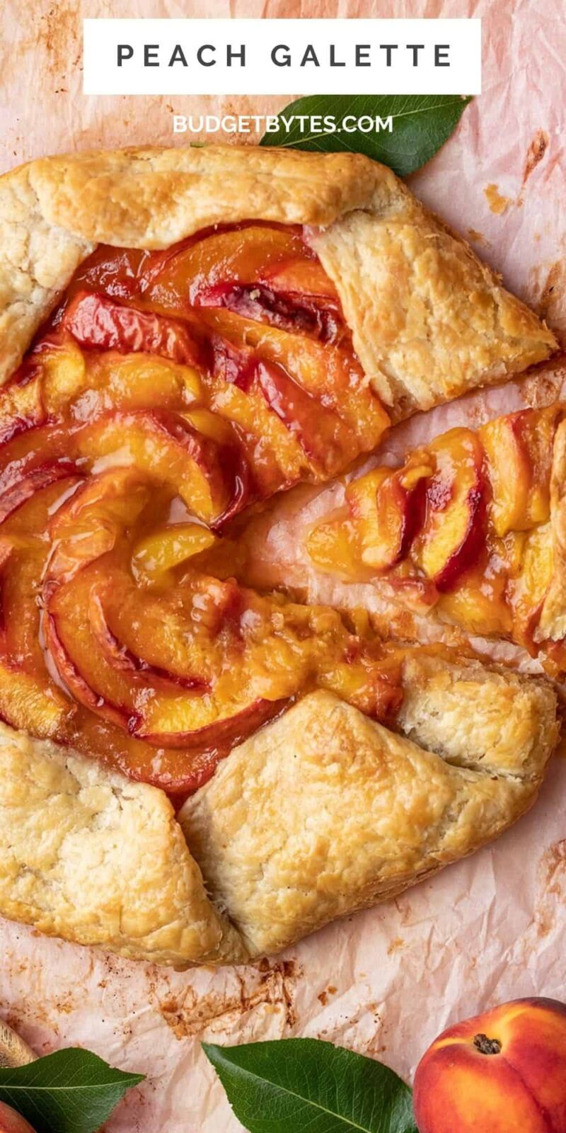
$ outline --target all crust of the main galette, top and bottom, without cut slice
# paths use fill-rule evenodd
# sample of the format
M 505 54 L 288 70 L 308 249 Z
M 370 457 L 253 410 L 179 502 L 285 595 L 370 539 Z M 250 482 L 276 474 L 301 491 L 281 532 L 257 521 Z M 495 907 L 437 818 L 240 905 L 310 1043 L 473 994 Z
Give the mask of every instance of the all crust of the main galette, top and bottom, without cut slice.
M 130 150 L 0 178 L 0 383 L 97 242 L 162 248 L 254 219 L 310 228 L 396 417 L 555 349 L 460 238 L 360 155 Z M 182 828 L 158 790 L 0 725 L 0 912 L 128 957 L 238 963 L 472 852 L 534 800 L 556 698 L 480 665 L 427 664 L 405 668 L 409 739 L 312 693 L 232 751 Z

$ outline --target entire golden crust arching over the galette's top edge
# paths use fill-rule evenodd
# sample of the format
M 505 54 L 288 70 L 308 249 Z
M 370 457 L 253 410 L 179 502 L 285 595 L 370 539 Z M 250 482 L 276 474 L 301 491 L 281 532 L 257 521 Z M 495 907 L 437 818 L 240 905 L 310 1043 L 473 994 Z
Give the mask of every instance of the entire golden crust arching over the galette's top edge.
M 394 417 L 547 358 L 552 333 L 395 174 L 361 154 L 205 146 L 45 157 L 0 178 L 0 382 L 98 242 L 163 248 L 305 224 Z

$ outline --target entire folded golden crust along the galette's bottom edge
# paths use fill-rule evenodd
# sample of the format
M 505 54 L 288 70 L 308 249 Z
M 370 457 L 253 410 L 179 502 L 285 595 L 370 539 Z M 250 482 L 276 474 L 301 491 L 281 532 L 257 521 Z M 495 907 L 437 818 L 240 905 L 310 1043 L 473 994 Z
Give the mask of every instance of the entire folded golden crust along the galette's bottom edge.
M 165 794 L 0 725 L 0 913 L 175 968 L 245 963 L 401 893 L 534 802 L 556 696 L 408 654 L 398 731 L 308 695 L 178 819 Z

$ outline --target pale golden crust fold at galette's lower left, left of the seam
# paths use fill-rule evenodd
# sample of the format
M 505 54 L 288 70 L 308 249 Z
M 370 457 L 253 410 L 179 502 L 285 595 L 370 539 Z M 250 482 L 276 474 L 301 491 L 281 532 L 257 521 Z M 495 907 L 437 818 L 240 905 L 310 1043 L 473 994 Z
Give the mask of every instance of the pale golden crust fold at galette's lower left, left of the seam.
M 0 912 L 137 960 L 246 959 L 162 791 L 5 725 Z

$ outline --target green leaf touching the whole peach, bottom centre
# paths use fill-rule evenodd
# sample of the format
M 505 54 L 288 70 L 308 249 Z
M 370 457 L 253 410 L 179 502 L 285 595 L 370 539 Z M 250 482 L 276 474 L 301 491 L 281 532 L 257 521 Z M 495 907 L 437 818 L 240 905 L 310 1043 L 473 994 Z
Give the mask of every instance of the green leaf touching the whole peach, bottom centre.
M 203 1049 L 250 1133 L 417 1133 L 411 1090 L 372 1058 L 319 1039 Z

